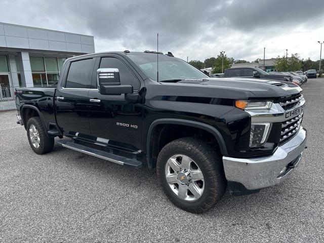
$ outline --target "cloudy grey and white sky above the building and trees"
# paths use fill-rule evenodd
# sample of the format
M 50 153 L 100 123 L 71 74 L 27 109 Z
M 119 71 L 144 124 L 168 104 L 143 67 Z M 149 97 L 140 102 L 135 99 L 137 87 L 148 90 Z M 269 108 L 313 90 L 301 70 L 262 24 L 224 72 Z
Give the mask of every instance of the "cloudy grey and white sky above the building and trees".
M 299 53 L 319 60 L 323 0 L 2 0 L 0 22 L 90 34 L 96 52 L 171 51 L 253 61 Z

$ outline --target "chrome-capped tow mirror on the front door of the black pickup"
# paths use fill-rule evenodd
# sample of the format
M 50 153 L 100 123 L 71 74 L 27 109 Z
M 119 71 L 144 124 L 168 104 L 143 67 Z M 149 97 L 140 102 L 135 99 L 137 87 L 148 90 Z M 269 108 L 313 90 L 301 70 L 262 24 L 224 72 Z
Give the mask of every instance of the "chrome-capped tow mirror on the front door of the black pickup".
M 121 95 L 133 93 L 133 86 L 120 85 L 118 68 L 97 69 L 97 85 L 102 95 Z

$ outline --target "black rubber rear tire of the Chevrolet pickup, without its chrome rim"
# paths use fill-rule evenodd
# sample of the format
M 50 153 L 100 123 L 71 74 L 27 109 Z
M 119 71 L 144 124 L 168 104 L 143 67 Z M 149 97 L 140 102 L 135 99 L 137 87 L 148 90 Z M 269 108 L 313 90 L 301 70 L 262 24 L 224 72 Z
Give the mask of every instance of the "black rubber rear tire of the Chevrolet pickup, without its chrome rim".
M 30 138 L 30 126 L 34 125 L 38 131 L 39 134 L 39 147 L 35 147 L 31 141 Z M 27 122 L 27 138 L 30 144 L 30 147 L 32 148 L 32 150 L 34 150 L 35 153 L 38 154 L 45 154 L 45 153 L 49 153 L 53 150 L 54 147 L 54 138 L 49 138 L 47 136 L 47 131 L 43 126 L 42 120 L 41 118 L 39 118 L 39 116 L 34 116 L 31 117 L 28 122 Z

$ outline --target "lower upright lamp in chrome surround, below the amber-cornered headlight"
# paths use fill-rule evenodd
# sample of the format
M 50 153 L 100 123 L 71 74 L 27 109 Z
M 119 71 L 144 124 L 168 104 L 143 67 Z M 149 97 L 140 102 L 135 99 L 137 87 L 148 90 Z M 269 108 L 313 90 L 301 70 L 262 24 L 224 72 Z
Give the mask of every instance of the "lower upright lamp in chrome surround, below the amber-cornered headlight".
M 259 147 L 264 144 L 270 128 L 270 123 L 251 124 L 250 147 Z

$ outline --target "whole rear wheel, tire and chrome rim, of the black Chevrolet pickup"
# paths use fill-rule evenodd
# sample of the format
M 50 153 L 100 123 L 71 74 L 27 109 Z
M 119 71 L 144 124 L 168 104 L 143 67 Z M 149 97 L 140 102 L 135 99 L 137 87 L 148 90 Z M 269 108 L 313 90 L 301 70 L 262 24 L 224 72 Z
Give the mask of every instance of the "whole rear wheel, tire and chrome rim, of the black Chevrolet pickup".
M 30 147 L 35 153 L 48 153 L 54 147 L 54 138 L 47 137 L 46 130 L 39 116 L 31 117 L 28 120 L 27 137 Z

